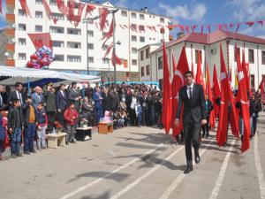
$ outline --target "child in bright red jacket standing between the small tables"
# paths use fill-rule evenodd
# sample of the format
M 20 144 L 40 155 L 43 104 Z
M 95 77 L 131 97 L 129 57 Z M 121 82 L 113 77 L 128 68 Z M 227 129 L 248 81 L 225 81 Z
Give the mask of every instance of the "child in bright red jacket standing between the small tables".
M 74 134 L 75 134 L 75 127 L 78 123 L 79 114 L 74 109 L 73 102 L 69 103 L 69 107 L 64 111 L 64 119 L 66 122 L 66 129 L 67 129 L 66 144 L 68 145 L 68 142 L 75 143 L 76 140 L 74 138 Z

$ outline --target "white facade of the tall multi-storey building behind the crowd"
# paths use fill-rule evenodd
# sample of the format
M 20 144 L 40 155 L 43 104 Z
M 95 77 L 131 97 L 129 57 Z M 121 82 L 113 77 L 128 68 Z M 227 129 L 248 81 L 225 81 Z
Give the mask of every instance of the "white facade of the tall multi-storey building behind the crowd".
M 47 0 L 49 4 L 49 0 Z M 26 65 L 27 61 L 30 59 L 30 56 L 34 53 L 34 44 L 30 41 L 29 37 L 27 36 L 28 33 L 35 33 L 35 26 L 42 26 L 42 33 L 50 32 L 50 27 L 64 27 L 64 34 L 58 34 L 58 33 L 50 33 L 52 41 L 61 41 L 64 42 L 64 47 L 58 48 L 54 47 L 54 54 L 55 55 L 63 55 L 64 61 L 54 61 L 50 65 L 50 69 L 56 69 L 56 70 L 84 70 L 87 71 L 87 31 L 86 31 L 86 24 L 82 23 L 82 21 L 79 22 L 79 26 L 76 27 L 77 29 L 80 29 L 80 34 L 67 34 L 67 28 L 75 28 L 73 23 L 70 23 L 69 20 L 66 19 L 64 16 L 64 19 L 58 20 L 57 24 L 54 24 L 53 20 L 49 20 L 46 14 L 46 11 L 42 4 L 36 4 L 34 0 L 32 0 L 31 4 L 27 4 L 29 7 L 29 10 L 32 14 L 32 19 L 26 16 L 19 16 L 19 9 L 21 9 L 19 0 L 16 0 L 15 2 L 15 24 L 16 24 L 16 31 L 15 31 L 15 39 L 16 41 L 19 41 L 19 38 L 24 38 L 27 40 L 26 45 L 20 45 L 19 42 L 16 42 L 15 44 L 15 53 L 14 58 L 16 60 L 17 66 L 24 66 Z M 92 17 L 95 17 L 98 15 L 98 7 L 101 7 L 100 4 L 95 4 L 96 9 L 92 11 Z M 111 4 L 105 3 L 105 7 L 111 8 Z M 52 12 L 60 13 L 57 9 L 57 4 L 49 4 L 50 10 Z M 86 8 L 85 8 L 86 9 Z M 85 9 L 83 11 L 83 15 L 81 19 L 85 18 Z M 42 11 L 42 19 L 35 18 L 35 11 Z M 127 17 L 122 16 L 121 12 L 127 11 Z M 77 12 L 77 9 L 75 10 L 75 13 Z M 132 13 L 136 13 L 136 19 L 133 19 L 131 17 Z M 140 19 L 140 14 L 144 16 L 144 19 Z M 135 51 L 132 51 L 132 48 L 139 49 L 148 43 L 155 43 L 155 42 L 161 42 L 161 40 L 164 38 L 166 41 L 169 40 L 169 29 L 166 28 L 166 26 L 169 24 L 170 19 L 147 13 L 144 11 L 130 11 L 127 9 L 120 9 L 116 13 L 116 41 L 120 41 L 121 45 L 116 45 L 116 52 L 117 57 L 121 58 L 122 60 L 127 60 L 127 65 L 117 65 L 117 71 L 120 72 L 139 72 L 139 65 L 138 65 L 138 54 Z M 91 17 L 89 14 L 87 17 Z M 164 19 L 164 22 L 161 22 L 161 18 Z M 107 20 L 109 21 L 109 24 L 112 20 L 112 15 L 109 14 Z M 97 23 L 99 20 L 95 20 Z M 126 25 L 130 27 L 131 24 L 137 24 L 137 27 L 139 25 L 144 26 L 157 26 L 162 25 L 164 26 L 165 33 L 160 33 L 160 27 L 156 27 L 157 32 L 149 30 L 147 27 L 145 27 L 145 32 L 134 32 L 130 28 L 129 29 L 123 29 L 119 26 L 119 24 Z M 19 24 L 25 24 L 27 27 L 26 31 L 19 30 Z M 110 27 L 107 27 L 103 30 L 103 32 L 108 32 Z M 88 31 L 93 31 L 94 36 L 88 37 L 88 43 L 94 44 L 94 50 L 88 50 L 88 57 L 94 57 L 94 63 L 89 63 L 89 70 L 90 71 L 113 71 L 113 66 L 110 62 L 110 64 L 103 63 L 102 57 L 105 54 L 105 50 L 102 50 L 102 32 L 95 26 L 95 24 L 88 24 Z M 132 35 L 135 35 L 137 37 L 137 42 L 132 41 Z M 140 36 L 145 37 L 145 42 L 140 42 Z M 79 42 L 80 48 L 79 49 L 72 49 L 67 48 L 67 42 Z M 110 38 L 110 41 L 108 41 L 106 44 L 110 44 L 112 42 L 112 38 Z M 26 60 L 19 60 L 19 53 L 26 53 Z M 80 61 L 79 62 L 70 62 L 67 60 L 67 56 L 79 56 Z M 111 58 L 111 52 L 109 55 L 109 58 Z M 136 64 L 132 63 L 133 59 L 137 60 Z M 134 64 L 134 65 L 133 65 Z

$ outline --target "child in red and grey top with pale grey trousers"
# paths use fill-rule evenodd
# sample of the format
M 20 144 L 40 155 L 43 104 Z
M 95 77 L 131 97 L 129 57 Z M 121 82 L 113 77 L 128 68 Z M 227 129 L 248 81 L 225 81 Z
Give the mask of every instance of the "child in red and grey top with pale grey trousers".
M 46 129 L 48 126 L 48 118 L 43 108 L 43 103 L 37 105 L 37 149 L 46 149 Z

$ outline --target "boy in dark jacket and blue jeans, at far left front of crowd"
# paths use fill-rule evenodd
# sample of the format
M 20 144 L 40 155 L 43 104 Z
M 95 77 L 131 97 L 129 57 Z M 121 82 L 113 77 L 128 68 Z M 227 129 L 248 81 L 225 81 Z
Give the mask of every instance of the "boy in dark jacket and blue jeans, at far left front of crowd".
M 22 157 L 20 152 L 21 132 L 24 126 L 19 99 L 12 100 L 8 111 L 8 131 L 11 134 L 11 157 Z

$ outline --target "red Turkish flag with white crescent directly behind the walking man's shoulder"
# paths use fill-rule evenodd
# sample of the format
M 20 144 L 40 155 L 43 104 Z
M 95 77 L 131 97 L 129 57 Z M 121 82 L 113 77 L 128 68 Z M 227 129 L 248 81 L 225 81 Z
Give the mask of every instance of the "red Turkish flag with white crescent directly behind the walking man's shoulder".
M 172 90 L 172 123 L 174 124 L 174 120 L 177 114 L 178 110 L 178 92 L 179 89 L 182 88 L 185 83 L 185 73 L 189 70 L 189 65 L 186 58 L 186 48 L 185 46 L 181 50 L 180 57 L 178 59 L 178 65 L 176 66 L 175 57 L 172 55 L 173 59 L 173 67 L 174 70 L 174 76 L 172 80 L 171 90 Z M 181 114 L 182 115 L 182 114 Z M 172 134 L 174 136 L 177 136 L 182 130 L 182 118 L 180 118 L 180 124 L 179 126 L 172 125 Z

